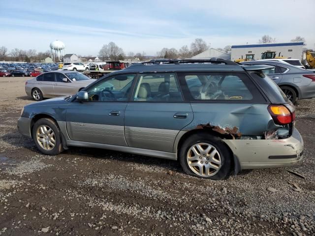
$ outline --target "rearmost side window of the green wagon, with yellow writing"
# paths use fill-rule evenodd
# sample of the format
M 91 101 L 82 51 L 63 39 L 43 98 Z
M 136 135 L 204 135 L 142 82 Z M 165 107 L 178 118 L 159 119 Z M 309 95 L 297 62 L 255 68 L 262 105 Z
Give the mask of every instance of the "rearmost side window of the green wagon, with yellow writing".
M 178 73 L 189 101 L 265 102 L 243 73 Z

